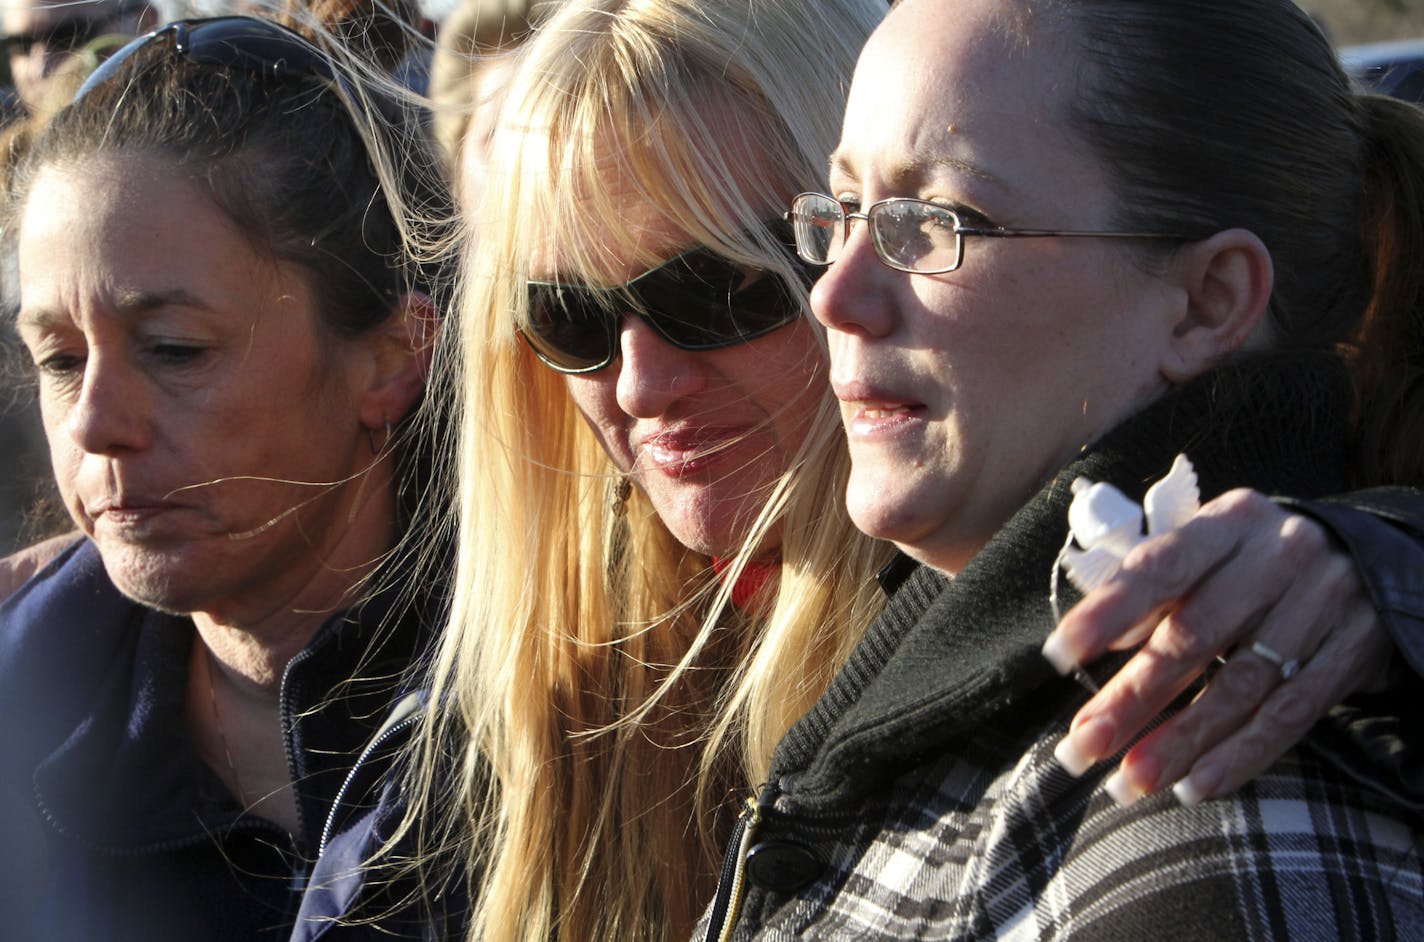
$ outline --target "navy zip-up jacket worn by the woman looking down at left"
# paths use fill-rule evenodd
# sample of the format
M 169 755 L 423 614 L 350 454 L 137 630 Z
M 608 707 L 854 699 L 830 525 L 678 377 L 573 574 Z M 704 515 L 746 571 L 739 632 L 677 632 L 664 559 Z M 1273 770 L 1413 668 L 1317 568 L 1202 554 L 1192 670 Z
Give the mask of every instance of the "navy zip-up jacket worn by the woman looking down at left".
M 246 815 L 185 723 L 191 620 L 121 596 L 78 542 L 0 606 L 0 938 L 285 939 L 352 763 L 422 646 L 387 592 L 288 665 L 300 830 Z M 359 677 L 352 682 L 352 677 Z

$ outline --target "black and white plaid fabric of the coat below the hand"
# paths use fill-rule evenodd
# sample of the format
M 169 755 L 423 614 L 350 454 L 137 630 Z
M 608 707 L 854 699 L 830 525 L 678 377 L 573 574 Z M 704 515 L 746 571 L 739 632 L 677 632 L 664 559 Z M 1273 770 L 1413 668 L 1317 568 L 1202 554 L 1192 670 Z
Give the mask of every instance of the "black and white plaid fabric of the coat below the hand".
M 975 737 L 994 741 L 1002 723 Z M 792 898 L 753 888 L 732 938 L 1424 939 L 1418 820 L 1309 747 L 1227 798 L 1119 808 L 1111 766 L 1074 780 L 1055 741 L 1017 761 L 965 743 L 853 822 L 783 800 L 759 840 L 827 869 Z

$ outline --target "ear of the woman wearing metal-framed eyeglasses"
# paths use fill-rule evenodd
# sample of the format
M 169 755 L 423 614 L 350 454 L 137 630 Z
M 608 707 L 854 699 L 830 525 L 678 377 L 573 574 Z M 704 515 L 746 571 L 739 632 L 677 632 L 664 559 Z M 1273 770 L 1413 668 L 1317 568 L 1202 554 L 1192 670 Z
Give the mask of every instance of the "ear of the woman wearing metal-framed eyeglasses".
M 1172 326 L 1161 371 L 1169 383 L 1182 384 L 1265 330 L 1276 275 L 1266 245 L 1247 229 L 1192 242 L 1172 265 L 1186 307 Z

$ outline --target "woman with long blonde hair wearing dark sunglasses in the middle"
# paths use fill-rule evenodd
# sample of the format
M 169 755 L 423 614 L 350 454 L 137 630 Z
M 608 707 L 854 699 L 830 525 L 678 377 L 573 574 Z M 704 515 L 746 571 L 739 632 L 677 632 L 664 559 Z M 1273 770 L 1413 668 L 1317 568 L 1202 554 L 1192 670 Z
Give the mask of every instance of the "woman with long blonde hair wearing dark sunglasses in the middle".
M 337 835 L 313 919 L 360 933 L 444 894 L 453 865 L 471 939 L 689 933 L 739 797 L 881 608 L 891 551 L 839 504 L 843 435 L 780 213 L 823 178 L 883 13 L 575 0 L 524 46 L 444 363 L 440 709 L 389 785 L 410 817 L 387 803 Z M 1327 558 L 1321 541 L 1303 572 Z M 367 879 L 362 901 L 383 842 L 386 862 L 433 861 L 427 882 Z

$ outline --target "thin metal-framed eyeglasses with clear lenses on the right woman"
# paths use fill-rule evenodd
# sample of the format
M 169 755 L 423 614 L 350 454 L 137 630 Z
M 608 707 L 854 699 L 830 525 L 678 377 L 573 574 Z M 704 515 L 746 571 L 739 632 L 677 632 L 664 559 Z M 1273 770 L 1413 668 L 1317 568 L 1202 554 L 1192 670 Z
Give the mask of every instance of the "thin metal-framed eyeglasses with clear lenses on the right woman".
M 1166 239 L 1186 242 L 1189 236 L 1166 232 L 1109 232 L 1099 229 L 1008 229 L 967 226 L 948 206 L 926 199 L 894 196 L 853 212 L 826 194 L 799 194 L 792 199 L 786 221 L 796 238 L 796 255 L 810 265 L 830 265 L 840 258 L 850 236 L 850 221 L 863 219 L 870 245 L 887 266 L 913 275 L 943 275 L 964 262 L 964 236 L 1031 239 L 1078 236 L 1094 239 Z

